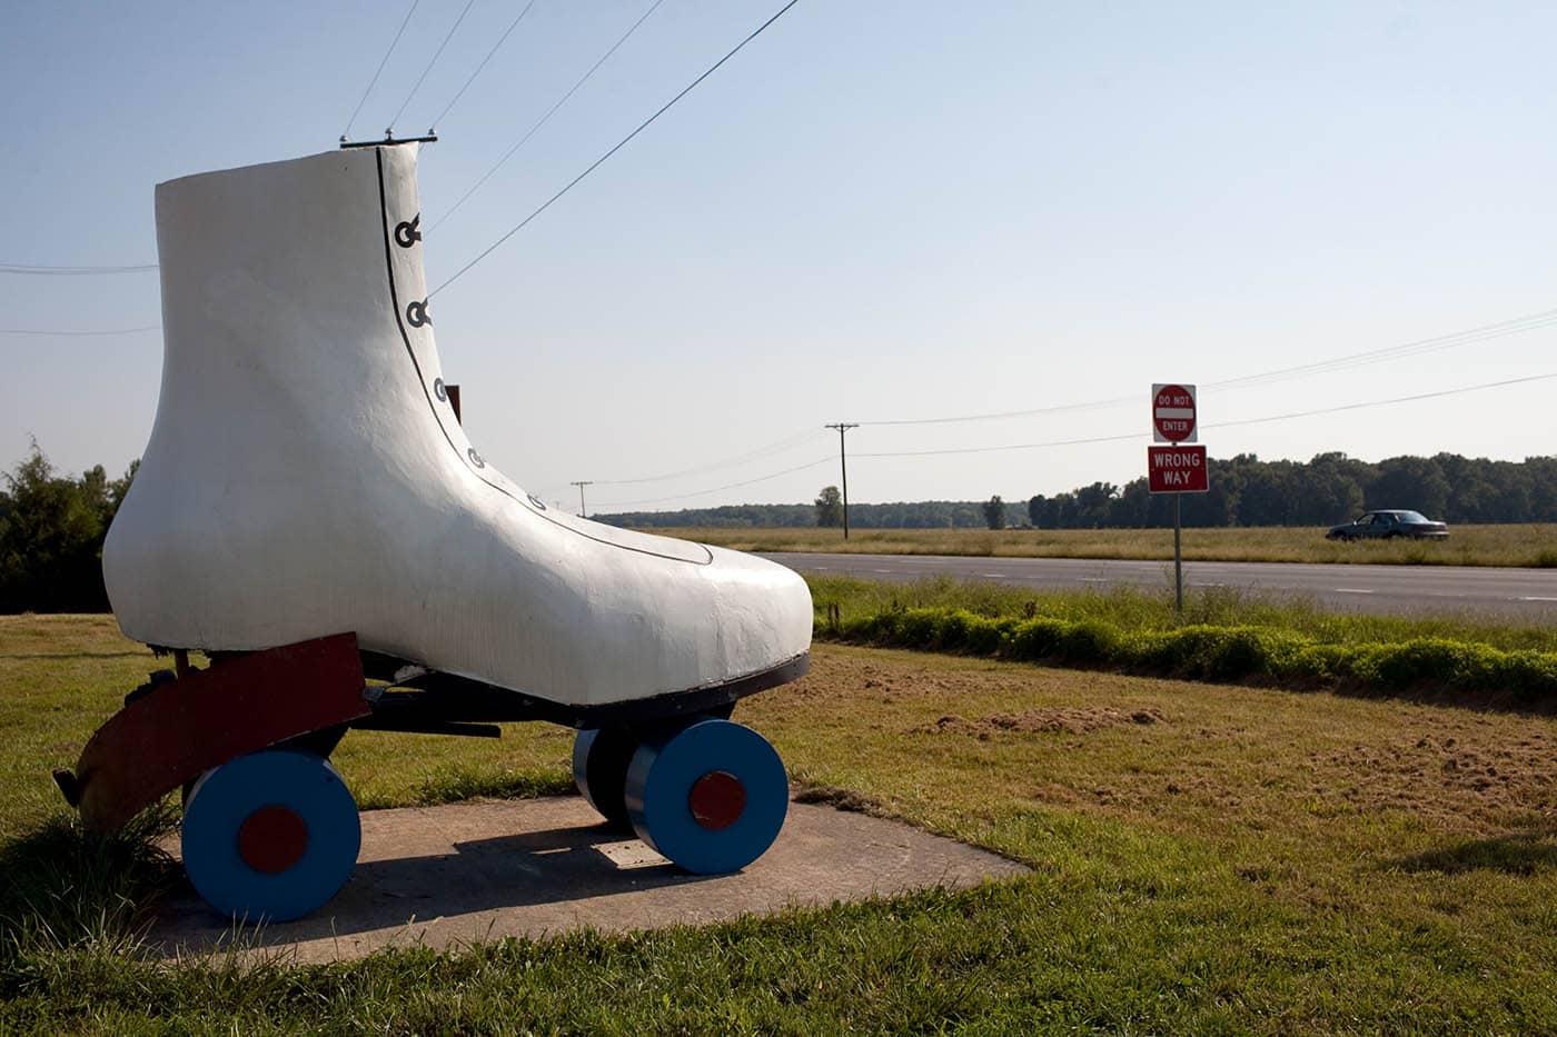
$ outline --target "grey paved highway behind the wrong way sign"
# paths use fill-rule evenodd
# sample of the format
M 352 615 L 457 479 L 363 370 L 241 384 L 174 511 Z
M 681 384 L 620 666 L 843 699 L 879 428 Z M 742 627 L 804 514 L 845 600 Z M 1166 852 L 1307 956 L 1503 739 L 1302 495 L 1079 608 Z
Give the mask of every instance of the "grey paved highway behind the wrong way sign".
M 1071 590 L 1113 584 L 1172 587 L 1172 562 L 778 551 L 764 557 L 802 573 L 887 582 L 951 576 Z M 1186 592 L 1235 587 L 1261 595 L 1297 595 L 1350 612 L 1473 612 L 1526 623 L 1557 623 L 1557 570 L 1551 568 L 1185 562 L 1183 584 Z

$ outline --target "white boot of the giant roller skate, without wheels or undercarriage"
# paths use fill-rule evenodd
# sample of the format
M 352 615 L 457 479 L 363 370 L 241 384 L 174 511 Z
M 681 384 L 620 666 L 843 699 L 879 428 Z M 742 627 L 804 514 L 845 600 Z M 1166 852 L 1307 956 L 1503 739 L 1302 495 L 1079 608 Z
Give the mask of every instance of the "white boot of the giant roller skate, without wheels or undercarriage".
M 417 209 L 414 145 L 157 187 L 162 395 L 103 548 L 125 634 L 215 651 L 355 631 L 570 705 L 802 671 L 799 576 L 561 514 L 470 445 Z

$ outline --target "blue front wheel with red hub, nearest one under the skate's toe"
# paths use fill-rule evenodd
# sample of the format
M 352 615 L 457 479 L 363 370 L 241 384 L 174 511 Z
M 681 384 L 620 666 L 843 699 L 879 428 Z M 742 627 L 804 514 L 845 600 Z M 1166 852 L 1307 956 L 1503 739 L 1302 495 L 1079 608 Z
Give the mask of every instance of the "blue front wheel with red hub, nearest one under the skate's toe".
M 699 721 L 632 754 L 627 816 L 638 838 L 698 875 L 736 872 L 768 852 L 789 811 L 789 782 L 768 740 Z

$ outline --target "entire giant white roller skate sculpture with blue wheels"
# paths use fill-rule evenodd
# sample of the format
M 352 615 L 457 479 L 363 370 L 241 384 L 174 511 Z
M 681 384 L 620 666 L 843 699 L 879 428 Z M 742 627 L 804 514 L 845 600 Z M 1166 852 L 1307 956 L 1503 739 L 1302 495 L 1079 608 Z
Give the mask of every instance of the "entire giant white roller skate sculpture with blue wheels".
M 687 870 L 744 867 L 788 794 L 730 707 L 805 673 L 805 584 L 559 514 L 483 459 L 441 377 L 419 227 L 416 145 L 157 187 L 162 392 L 103 575 L 125 634 L 179 665 L 61 788 L 109 830 L 182 786 L 195 888 L 280 920 L 357 861 L 329 763 L 347 729 L 547 719 L 579 729 L 575 777 L 609 821 Z

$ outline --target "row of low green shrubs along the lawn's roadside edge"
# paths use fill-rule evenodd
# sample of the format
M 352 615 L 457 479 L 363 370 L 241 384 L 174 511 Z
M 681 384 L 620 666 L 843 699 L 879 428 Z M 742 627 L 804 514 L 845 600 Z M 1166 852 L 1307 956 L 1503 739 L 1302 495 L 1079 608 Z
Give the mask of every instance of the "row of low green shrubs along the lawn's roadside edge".
M 1333 645 L 1255 626 L 1182 626 L 1123 631 L 1096 620 L 987 618 L 962 609 L 894 609 L 841 623 L 817 635 L 858 645 L 967 652 L 1199 680 L 1359 685 L 1404 691 L 1425 685 L 1557 696 L 1557 652 L 1420 637 L 1398 643 Z

